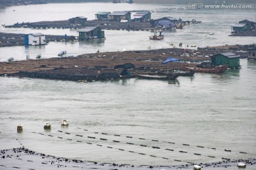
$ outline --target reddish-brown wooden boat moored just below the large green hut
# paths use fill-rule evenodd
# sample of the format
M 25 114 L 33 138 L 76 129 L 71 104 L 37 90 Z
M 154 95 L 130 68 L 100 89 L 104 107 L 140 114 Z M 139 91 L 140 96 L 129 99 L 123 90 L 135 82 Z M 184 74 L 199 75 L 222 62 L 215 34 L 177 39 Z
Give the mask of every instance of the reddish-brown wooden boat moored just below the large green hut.
M 187 71 L 192 70 L 193 72 L 219 74 L 219 73 L 225 72 L 225 70 L 228 69 L 228 67 L 227 66 L 220 66 L 220 67 L 214 67 L 214 68 L 183 67 L 183 69 Z

